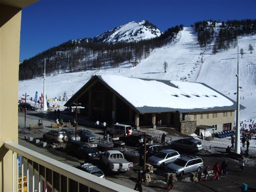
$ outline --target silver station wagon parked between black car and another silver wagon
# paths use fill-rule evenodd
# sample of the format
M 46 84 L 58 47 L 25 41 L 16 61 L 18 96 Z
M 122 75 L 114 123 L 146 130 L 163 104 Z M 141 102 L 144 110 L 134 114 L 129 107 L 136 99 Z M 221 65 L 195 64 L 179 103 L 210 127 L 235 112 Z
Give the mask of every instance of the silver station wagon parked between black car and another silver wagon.
M 148 158 L 147 163 L 156 167 L 162 167 L 174 162 L 178 158 L 180 158 L 180 154 L 177 151 L 168 149 L 162 150 L 155 154 L 154 156 Z

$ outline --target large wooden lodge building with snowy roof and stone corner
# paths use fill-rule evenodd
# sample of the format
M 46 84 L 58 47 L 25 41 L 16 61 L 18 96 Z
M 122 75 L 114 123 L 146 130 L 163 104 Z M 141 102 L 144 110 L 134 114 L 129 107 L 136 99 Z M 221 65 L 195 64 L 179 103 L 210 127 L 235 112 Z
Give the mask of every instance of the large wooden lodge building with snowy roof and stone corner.
M 236 110 L 236 102 L 204 83 L 116 75 L 92 76 L 65 106 L 76 101 L 91 120 L 137 128 L 161 120 L 183 134 L 231 130 Z

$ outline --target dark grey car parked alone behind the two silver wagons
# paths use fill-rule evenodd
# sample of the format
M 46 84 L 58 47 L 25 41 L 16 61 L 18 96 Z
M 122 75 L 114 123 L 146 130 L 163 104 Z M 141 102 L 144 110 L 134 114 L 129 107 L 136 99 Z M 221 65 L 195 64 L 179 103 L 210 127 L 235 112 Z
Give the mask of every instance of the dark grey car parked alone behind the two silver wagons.
M 197 152 L 203 149 L 202 142 L 195 138 L 183 138 L 172 141 L 172 149 L 188 150 L 189 153 Z

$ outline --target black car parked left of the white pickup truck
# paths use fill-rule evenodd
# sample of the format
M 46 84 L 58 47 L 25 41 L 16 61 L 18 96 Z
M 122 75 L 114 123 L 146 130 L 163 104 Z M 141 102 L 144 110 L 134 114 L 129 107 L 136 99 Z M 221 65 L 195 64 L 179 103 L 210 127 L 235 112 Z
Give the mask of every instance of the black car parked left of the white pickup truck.
M 99 151 L 81 141 L 69 141 L 66 145 L 66 152 L 69 155 L 79 157 L 81 159 L 90 159 L 99 156 Z

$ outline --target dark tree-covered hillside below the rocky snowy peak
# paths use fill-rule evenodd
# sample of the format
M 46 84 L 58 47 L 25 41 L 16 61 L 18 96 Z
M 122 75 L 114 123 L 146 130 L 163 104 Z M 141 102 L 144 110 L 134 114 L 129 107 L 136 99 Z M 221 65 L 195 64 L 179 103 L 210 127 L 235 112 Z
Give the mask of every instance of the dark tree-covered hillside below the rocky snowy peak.
M 136 66 L 150 51 L 159 48 L 174 38 L 183 25 L 168 28 L 160 37 L 138 42 L 118 42 L 116 44 L 95 43 L 86 38 L 70 40 L 50 48 L 20 64 L 19 80 L 28 80 L 42 76 L 44 58 L 46 74 L 79 72 L 105 67 L 118 67 L 122 63 Z

